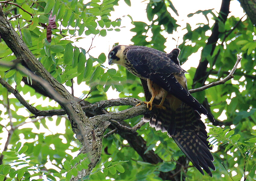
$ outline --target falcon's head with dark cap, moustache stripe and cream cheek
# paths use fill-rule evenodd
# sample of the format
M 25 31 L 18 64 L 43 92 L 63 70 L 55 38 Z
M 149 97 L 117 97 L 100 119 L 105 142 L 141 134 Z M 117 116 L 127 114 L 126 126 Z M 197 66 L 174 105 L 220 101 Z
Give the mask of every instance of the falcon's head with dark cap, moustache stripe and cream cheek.
M 124 45 L 117 45 L 112 48 L 112 50 L 108 54 L 108 64 L 118 64 L 118 65 L 123 65 L 125 58 L 123 54 L 123 50 L 126 48 Z

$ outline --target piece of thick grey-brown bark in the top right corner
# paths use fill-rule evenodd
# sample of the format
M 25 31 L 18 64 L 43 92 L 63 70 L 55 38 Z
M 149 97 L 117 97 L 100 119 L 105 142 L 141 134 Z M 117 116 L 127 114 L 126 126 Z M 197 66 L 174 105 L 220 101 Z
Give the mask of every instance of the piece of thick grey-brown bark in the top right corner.
M 256 25 L 256 0 L 238 0 L 251 22 Z

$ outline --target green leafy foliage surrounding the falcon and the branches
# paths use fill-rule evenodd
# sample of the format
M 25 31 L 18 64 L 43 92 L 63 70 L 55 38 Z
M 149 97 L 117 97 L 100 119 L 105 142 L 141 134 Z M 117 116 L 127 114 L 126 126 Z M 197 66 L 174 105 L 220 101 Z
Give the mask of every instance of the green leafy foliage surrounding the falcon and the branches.
M 126 72 L 123 67 L 118 67 L 118 71 L 105 67 L 103 63 L 107 55 L 101 53 L 97 58 L 93 57 L 89 50 L 79 48 L 75 43 L 86 36 L 105 37 L 109 31 L 122 31 L 121 18 L 109 19 L 114 5 L 118 5 L 117 0 L 92 0 L 87 4 L 83 4 L 84 1 L 81 0 L 11 2 L 13 3 L 3 3 L 5 15 L 31 52 L 59 83 L 72 89 L 74 83 L 79 85 L 85 82 L 91 89 L 84 91 L 84 95 L 89 94 L 86 100 L 90 103 L 106 100 L 106 92 L 110 87 L 119 91 L 120 97 L 144 99 L 140 97 L 143 90 L 138 78 Z M 129 0 L 125 2 L 131 5 Z M 235 72 L 232 81 L 193 94 L 200 102 L 207 98 L 215 118 L 221 115 L 227 117 L 218 126 L 213 126 L 213 123 L 206 120 L 206 124 L 211 127 L 209 135 L 213 139 L 212 143 L 218 145 L 217 151 L 213 153 L 216 167 L 213 178 L 202 176 L 191 163 L 188 168 L 180 170 L 181 175 L 185 175 L 187 180 L 240 180 L 244 176 L 249 181 L 255 180 L 255 26 L 248 18 L 240 21 L 234 16 L 230 16 L 225 23 L 219 21 L 220 36 L 211 55 L 211 47 L 206 45 L 209 39 L 206 31 L 212 30 L 208 18 L 210 14 L 215 20 L 219 17 L 212 9 L 197 10 L 195 9 L 194 14 L 203 14 L 208 23 L 198 22 L 196 27 L 187 23 L 187 33 L 183 36 L 183 43 L 178 46 L 181 49 L 181 64 L 203 47 L 201 59 L 209 62 L 206 82 L 213 82 L 228 74 L 235 64 L 237 54 L 242 53 L 243 59 L 241 68 Z M 131 40 L 135 45 L 164 51 L 166 34 L 177 31 L 179 27 L 174 18 L 178 11 L 169 0 L 151 0 L 146 13 L 150 24 L 134 21 L 135 27 L 131 31 L 136 35 Z M 188 14 L 188 17 L 193 17 L 194 14 Z M 53 15 L 56 15 L 57 28 L 52 28 L 49 34 L 46 29 L 50 21 L 53 21 L 49 19 Z M 152 37 L 147 41 L 149 32 Z M 4 41 L 0 46 L 1 61 L 16 59 Z M 197 83 L 193 82 L 196 69 L 190 68 L 187 72 L 187 84 L 191 88 L 192 84 Z M 29 80 L 24 74 L 0 67 L 0 77 L 16 87 L 38 110 L 60 109 L 54 101 L 24 84 L 24 79 Z M 33 115 L 5 88 L 1 87 L 0 95 L 0 133 L 7 140 L 6 148 L 1 153 L 3 157 L 0 157 L 0 181 L 5 177 L 8 181 L 70 180 L 72 175 L 76 176 L 78 171 L 88 167 L 90 156 L 79 154 L 75 157 L 81 145 L 75 138 L 67 117 L 32 118 L 30 116 Z M 47 106 L 40 105 L 38 102 L 41 101 Z M 127 107 L 117 106 L 108 110 L 120 111 Z M 127 122 L 134 126 L 140 118 L 138 116 Z M 152 130 L 148 124 L 137 132 L 146 141 L 147 151 L 153 149 L 163 159 L 162 163 L 153 165 L 144 162 L 117 132 L 103 139 L 104 152 L 101 160 L 91 175 L 83 179 L 162 180 L 158 177 L 160 172 L 172 171 L 179 165 L 178 159 L 183 153 L 166 134 Z

